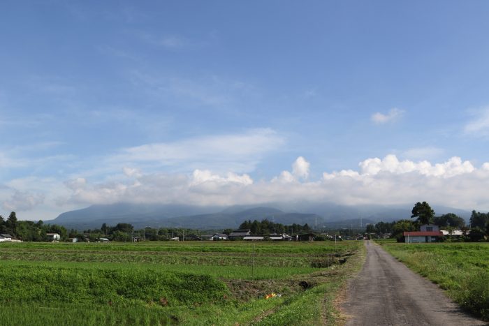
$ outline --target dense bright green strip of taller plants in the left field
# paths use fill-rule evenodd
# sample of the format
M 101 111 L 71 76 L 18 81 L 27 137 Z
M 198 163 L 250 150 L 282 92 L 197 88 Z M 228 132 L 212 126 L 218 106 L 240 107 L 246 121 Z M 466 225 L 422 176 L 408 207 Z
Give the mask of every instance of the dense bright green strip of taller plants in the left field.
M 0 302 L 45 305 L 128 304 L 161 302 L 169 306 L 221 302 L 221 281 L 208 275 L 133 269 L 0 267 Z

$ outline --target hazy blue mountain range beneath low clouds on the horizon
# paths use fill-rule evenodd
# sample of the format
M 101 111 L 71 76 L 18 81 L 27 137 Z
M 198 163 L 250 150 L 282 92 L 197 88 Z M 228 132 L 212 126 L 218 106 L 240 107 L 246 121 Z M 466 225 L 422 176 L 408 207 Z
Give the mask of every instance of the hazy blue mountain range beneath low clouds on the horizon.
M 451 207 L 432 207 L 437 215 L 454 213 L 465 218 L 470 212 Z M 246 220 L 270 221 L 282 224 L 309 224 L 313 228 L 359 228 L 366 223 L 394 221 L 411 216 L 412 206 L 344 206 L 328 203 L 287 203 L 263 206 L 200 207 L 191 205 L 147 205 L 118 203 L 92 205 L 60 214 L 54 220 L 66 228 L 87 230 L 100 228 L 103 223 L 131 223 L 136 229 L 172 227 L 221 230 L 238 228 Z

